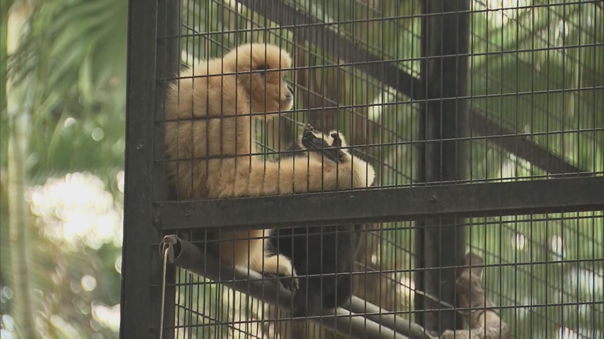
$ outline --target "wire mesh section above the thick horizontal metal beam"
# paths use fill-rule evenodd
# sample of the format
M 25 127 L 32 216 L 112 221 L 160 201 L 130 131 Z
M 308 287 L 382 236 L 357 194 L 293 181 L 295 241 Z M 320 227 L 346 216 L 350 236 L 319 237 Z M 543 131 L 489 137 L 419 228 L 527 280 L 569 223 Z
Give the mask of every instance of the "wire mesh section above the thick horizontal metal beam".
M 376 79 L 376 71 L 364 71 L 370 65 L 382 65 L 382 72 L 396 66 L 397 72 L 419 79 L 425 60 L 420 55 L 421 4 L 324 2 L 184 1 L 182 33 L 165 39 L 181 40 L 187 67 L 246 42 L 286 49 L 294 63 L 286 76 L 297 93 L 296 108 L 277 121 L 253 122 L 257 154 L 277 159 L 299 136 L 294 121 L 310 122 L 318 130 L 341 130 L 350 150 L 376 165 L 374 186 L 413 185 L 421 146 L 446 140 L 420 138 L 424 101 L 410 97 L 409 86 L 388 86 L 384 74 Z M 455 139 L 460 147 L 469 141 L 471 170 L 460 180 L 602 174 L 599 4 L 511 1 L 489 7 L 472 1 L 471 6 L 471 132 Z M 283 16 L 284 23 L 274 22 L 262 11 L 289 14 L 292 8 L 307 19 L 297 23 Z M 336 32 L 341 46 L 327 46 L 330 41 L 320 35 L 326 32 Z M 358 57 L 346 53 L 353 47 L 377 60 L 356 62 Z

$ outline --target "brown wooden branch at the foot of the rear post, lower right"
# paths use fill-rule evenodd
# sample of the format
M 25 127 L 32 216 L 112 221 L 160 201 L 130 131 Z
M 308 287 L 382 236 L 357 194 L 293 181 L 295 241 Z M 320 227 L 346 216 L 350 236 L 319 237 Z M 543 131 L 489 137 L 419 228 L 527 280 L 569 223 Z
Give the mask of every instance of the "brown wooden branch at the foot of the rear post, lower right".
M 463 308 L 464 319 L 470 329 L 443 332 L 441 339 L 509 339 L 510 329 L 499 317 L 495 303 L 484 296 L 484 289 L 480 283 L 480 274 L 484 262 L 480 256 L 467 253 L 464 265 L 472 266 L 463 268 L 455 280 L 457 303 Z

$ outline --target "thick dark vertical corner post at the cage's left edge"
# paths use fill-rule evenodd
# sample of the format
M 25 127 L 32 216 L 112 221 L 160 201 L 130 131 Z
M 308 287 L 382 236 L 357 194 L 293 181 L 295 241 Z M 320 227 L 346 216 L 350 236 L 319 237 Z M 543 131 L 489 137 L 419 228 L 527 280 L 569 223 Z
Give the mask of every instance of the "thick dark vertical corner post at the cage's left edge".
M 158 15 L 160 11 L 165 16 Z M 179 39 L 158 44 L 156 30 L 170 27 L 167 34 L 178 33 L 178 21 L 169 19 L 178 15 L 176 1 L 129 1 L 120 338 L 147 337 L 158 331 L 159 312 L 141 312 L 141 305 L 159 310 L 161 298 L 160 261 L 150 246 L 162 235 L 153 227 L 153 201 L 165 195 L 163 168 L 153 161 L 154 154 L 162 154 L 161 126 L 156 122 L 163 119 L 164 83 L 156 79 L 178 74 L 180 55 Z M 171 271 L 167 281 L 173 280 Z M 175 290 L 168 285 L 166 297 L 173 300 Z M 167 304 L 167 313 L 173 309 Z M 172 326 L 173 318 L 165 317 L 162 338 L 173 337 Z

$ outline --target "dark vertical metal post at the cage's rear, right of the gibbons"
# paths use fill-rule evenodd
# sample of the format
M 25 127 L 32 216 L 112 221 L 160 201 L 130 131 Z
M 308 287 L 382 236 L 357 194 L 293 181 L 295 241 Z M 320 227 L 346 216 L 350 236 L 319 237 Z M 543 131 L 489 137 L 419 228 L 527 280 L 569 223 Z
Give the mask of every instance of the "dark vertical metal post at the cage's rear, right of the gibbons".
M 467 52 L 469 0 L 425 0 L 422 17 L 422 103 L 420 136 L 426 141 L 420 155 L 420 182 L 443 183 L 466 179 Z M 439 197 L 431 197 L 432 201 Z M 431 203 L 426 201 L 426 203 Z M 418 223 L 419 253 L 416 281 L 425 293 L 455 305 L 455 268 L 463 262 L 464 229 L 460 218 L 431 218 Z M 423 269 L 422 269 L 423 268 Z M 442 303 L 416 294 L 416 321 L 442 333 L 460 327 L 461 317 Z M 434 311 L 421 311 L 432 309 Z

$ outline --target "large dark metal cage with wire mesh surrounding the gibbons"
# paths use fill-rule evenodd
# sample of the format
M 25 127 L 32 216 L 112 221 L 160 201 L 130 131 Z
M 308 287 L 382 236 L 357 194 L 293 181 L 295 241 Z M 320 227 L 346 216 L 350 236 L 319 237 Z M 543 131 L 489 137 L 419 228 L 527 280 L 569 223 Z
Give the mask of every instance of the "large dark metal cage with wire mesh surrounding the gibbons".
M 603 14 L 596 0 L 130 0 L 120 337 L 602 338 Z M 373 185 L 170 193 L 167 89 L 249 42 L 291 54 L 295 89 L 294 109 L 256 113 L 252 155 L 280 161 L 309 122 L 342 131 Z M 344 231 L 359 238 L 340 273 L 353 297 L 303 319 L 281 278 L 209 249 L 230 227 L 335 224 L 362 225 Z

